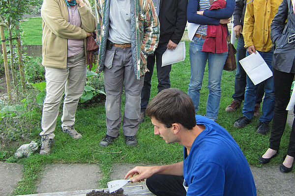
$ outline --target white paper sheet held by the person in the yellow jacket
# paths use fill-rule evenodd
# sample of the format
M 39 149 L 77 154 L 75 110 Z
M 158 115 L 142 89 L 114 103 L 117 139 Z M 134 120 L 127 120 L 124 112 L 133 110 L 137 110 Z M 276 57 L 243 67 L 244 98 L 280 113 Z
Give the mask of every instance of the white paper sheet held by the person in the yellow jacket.
M 265 60 L 258 51 L 256 52 L 256 54 L 253 52 L 239 61 L 254 85 L 272 76 L 272 72 L 268 68 Z

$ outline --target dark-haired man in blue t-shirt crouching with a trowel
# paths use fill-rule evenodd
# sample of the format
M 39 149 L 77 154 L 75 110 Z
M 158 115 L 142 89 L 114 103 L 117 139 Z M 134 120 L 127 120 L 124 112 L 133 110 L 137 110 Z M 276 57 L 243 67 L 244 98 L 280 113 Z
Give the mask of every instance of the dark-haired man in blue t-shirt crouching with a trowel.
M 132 182 L 147 179 L 157 196 L 256 196 L 249 164 L 232 136 L 206 117 L 178 89 L 165 89 L 148 104 L 146 114 L 154 134 L 167 144 L 183 146 L 183 161 L 163 166 L 135 167 Z

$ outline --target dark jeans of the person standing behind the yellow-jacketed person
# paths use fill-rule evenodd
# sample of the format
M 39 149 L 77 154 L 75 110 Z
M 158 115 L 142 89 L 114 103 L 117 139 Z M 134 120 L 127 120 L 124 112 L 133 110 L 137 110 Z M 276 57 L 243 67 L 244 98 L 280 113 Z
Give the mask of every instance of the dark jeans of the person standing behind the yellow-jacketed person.
M 245 97 L 245 88 L 247 86 L 247 73 L 239 63 L 239 60 L 246 57 L 247 49 L 244 48 L 244 38 L 242 35 L 237 39 L 236 44 L 236 75 L 235 75 L 235 93 L 234 100 L 243 101 Z M 257 89 L 256 103 L 261 103 L 264 96 L 264 85 L 260 83 Z

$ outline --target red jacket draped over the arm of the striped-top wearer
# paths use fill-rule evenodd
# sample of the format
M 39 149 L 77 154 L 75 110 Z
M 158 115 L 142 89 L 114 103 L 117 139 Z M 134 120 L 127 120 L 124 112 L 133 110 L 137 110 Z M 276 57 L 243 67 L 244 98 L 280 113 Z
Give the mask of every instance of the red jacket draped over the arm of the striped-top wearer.
M 215 0 L 209 10 L 225 8 L 225 0 Z M 203 44 L 202 51 L 212 53 L 223 53 L 227 48 L 227 25 L 207 25 L 207 37 Z

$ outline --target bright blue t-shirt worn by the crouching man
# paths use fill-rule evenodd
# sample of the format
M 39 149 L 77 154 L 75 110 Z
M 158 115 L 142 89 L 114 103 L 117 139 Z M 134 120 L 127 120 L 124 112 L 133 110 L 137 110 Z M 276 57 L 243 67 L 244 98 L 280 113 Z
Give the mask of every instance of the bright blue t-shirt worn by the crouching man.
M 249 164 L 232 136 L 206 117 L 196 115 L 205 129 L 195 139 L 189 155 L 183 147 L 186 196 L 256 196 Z

